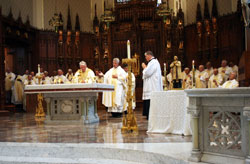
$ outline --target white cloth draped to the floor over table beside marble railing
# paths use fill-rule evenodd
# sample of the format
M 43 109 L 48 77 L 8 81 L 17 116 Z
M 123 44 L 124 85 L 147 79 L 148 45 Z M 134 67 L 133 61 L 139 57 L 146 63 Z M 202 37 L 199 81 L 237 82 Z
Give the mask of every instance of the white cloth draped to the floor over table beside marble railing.
M 187 106 L 188 97 L 183 90 L 153 92 L 147 132 L 191 135 Z

